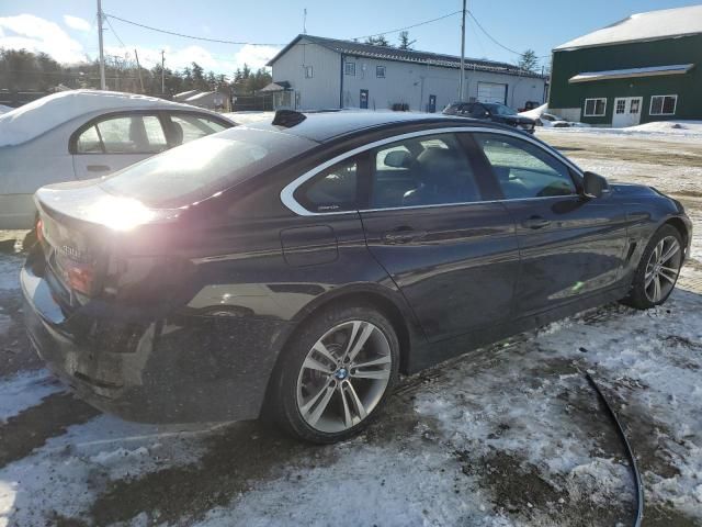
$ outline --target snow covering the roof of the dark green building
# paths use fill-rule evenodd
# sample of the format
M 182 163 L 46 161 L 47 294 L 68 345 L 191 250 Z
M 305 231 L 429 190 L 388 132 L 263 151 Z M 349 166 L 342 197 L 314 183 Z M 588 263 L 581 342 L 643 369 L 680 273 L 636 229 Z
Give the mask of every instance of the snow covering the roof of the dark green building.
M 695 33 L 702 33 L 702 5 L 632 14 L 612 25 L 566 42 L 556 47 L 556 51 Z

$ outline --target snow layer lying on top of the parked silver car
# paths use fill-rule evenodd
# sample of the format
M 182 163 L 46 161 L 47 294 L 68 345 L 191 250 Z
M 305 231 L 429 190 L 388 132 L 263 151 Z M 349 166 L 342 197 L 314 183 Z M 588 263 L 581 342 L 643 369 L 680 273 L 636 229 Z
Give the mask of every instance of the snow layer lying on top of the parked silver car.
M 0 115 L 0 147 L 25 143 L 71 119 L 97 110 L 173 106 L 182 108 L 176 102 L 135 93 L 98 90 L 61 91 Z

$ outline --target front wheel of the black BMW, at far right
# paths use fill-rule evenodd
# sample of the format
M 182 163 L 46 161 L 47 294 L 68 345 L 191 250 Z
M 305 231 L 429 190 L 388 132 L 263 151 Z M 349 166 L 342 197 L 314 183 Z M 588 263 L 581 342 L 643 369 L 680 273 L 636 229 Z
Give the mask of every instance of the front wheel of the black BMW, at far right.
M 625 303 L 638 310 L 663 304 L 676 285 L 682 266 L 682 238 L 671 225 L 660 227 L 648 242 Z

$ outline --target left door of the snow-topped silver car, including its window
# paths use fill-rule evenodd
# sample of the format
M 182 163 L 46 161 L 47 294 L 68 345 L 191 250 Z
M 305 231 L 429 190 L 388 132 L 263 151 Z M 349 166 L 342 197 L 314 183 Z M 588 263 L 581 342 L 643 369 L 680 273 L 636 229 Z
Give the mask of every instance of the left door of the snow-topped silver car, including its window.
M 158 113 L 103 115 L 81 126 L 70 139 L 77 179 L 106 176 L 168 149 Z

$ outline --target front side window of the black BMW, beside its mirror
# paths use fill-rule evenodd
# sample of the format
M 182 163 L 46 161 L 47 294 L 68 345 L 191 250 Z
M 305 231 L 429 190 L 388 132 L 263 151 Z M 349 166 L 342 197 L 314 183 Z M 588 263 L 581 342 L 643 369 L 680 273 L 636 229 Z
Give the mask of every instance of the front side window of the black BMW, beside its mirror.
M 475 134 L 508 200 L 577 193 L 570 171 L 539 146 L 517 137 Z

